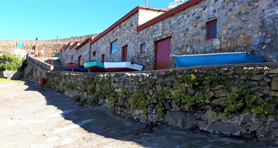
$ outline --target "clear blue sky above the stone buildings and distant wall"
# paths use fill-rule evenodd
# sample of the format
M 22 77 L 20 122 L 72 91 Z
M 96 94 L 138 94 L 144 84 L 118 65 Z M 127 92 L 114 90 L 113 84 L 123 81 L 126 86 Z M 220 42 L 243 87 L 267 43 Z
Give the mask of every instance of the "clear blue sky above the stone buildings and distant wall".
M 167 8 L 174 0 L 148 0 Z M 0 40 L 51 40 L 104 31 L 145 0 L 0 0 Z

